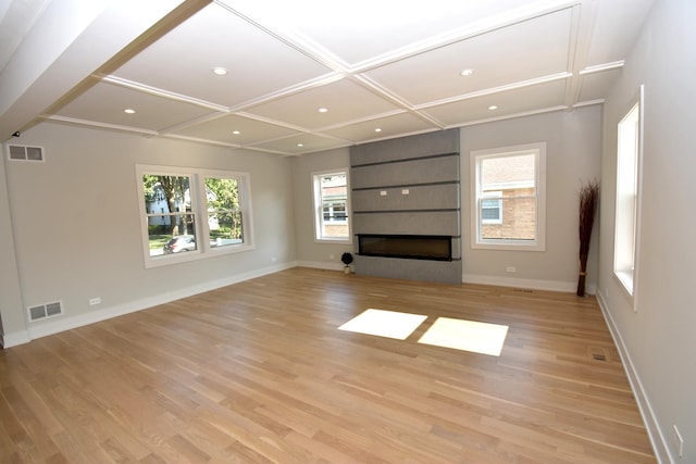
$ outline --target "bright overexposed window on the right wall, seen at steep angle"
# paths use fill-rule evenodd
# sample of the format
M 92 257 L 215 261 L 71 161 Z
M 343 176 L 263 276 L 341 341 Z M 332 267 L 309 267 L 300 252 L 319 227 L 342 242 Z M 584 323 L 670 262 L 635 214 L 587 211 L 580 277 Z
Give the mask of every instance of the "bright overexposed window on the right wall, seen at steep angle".
M 642 97 L 643 88 L 641 100 Z M 633 296 L 635 289 L 642 120 L 638 101 L 619 122 L 618 127 L 613 272 L 630 296 Z

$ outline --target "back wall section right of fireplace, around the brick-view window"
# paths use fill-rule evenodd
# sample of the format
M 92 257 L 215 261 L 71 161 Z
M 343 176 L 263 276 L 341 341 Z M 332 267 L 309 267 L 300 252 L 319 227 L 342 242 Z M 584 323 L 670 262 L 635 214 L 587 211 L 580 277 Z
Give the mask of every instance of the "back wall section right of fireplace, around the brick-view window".
M 461 129 L 463 280 L 575 291 L 579 273 L 579 197 L 583 183 L 599 179 L 601 108 L 539 114 Z M 546 251 L 471 248 L 470 152 L 546 142 Z M 598 224 L 587 263 L 586 290 L 597 281 Z M 517 273 L 508 273 L 508 266 Z

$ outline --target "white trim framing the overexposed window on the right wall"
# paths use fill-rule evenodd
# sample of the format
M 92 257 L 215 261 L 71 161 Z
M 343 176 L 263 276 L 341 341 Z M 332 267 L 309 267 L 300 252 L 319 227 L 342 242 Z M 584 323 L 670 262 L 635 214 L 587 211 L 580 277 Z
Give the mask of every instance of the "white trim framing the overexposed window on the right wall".
M 637 293 L 637 283 L 638 283 L 638 250 L 641 249 L 641 210 L 642 210 L 642 191 L 643 191 L 643 137 L 644 137 L 644 97 L 645 97 L 645 88 L 641 85 L 638 89 L 638 95 L 631 100 L 629 103 L 629 110 L 621 117 L 619 123 L 617 124 L 617 185 L 616 185 L 616 199 L 614 199 L 614 230 L 613 230 L 613 262 L 612 262 L 612 271 L 613 275 L 620 284 L 620 287 L 623 289 L 624 293 L 631 301 L 633 306 L 633 311 L 637 311 L 636 305 L 636 293 Z M 636 112 L 634 114 L 634 112 Z M 633 189 L 634 198 L 633 198 L 633 226 L 632 226 L 632 239 L 633 243 L 631 243 L 631 253 L 632 260 L 630 263 L 623 264 L 621 262 L 626 261 L 626 256 L 621 254 L 621 247 L 619 247 L 619 241 L 622 239 L 620 235 L 625 233 L 625 225 L 620 224 L 622 222 L 622 216 L 619 213 L 621 209 L 622 200 L 625 200 L 625 196 L 622 197 L 622 188 L 621 188 L 621 159 L 622 159 L 622 124 L 626 121 L 630 121 L 629 117 L 637 117 L 635 122 L 635 134 L 634 134 L 634 150 L 632 151 L 632 163 L 634 164 L 634 178 L 633 178 Z M 624 154 L 625 156 L 625 154 Z M 625 217 L 623 217 L 623 222 L 625 222 Z

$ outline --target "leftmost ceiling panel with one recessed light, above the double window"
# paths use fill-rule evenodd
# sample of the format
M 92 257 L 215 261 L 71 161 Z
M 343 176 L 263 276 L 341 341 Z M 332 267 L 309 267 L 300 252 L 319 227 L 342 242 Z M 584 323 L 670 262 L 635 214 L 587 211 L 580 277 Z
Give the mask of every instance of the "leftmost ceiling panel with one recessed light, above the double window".
M 126 114 L 125 109 L 135 110 L 135 114 Z M 114 124 L 161 130 L 209 113 L 210 110 L 190 103 L 98 83 L 63 106 L 58 115 L 90 121 L 97 125 Z

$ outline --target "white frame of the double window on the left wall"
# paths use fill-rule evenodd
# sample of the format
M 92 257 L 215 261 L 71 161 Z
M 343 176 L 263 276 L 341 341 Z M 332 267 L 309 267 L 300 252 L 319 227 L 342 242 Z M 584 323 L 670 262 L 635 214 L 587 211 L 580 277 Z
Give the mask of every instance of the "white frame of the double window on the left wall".
M 195 217 L 196 250 L 186 253 L 173 253 L 162 255 L 150 255 L 148 212 L 145 209 L 142 189 L 144 175 L 162 176 L 187 176 L 189 177 L 189 196 L 191 202 L 191 213 Z M 241 210 L 243 237 L 241 243 L 228 244 L 224 247 L 212 247 L 210 243 L 210 229 L 208 225 L 208 199 L 206 195 L 206 178 L 234 178 L 239 186 L 239 209 Z M 136 185 L 138 211 L 140 215 L 140 230 L 142 236 L 142 255 L 145 267 L 160 267 L 170 264 L 202 260 L 224 254 L 239 253 L 253 250 L 253 215 L 251 212 L 251 177 L 249 173 L 240 173 L 224 170 L 201 170 L 195 167 L 181 166 L 159 166 L 149 164 L 136 165 Z M 158 213 L 154 213 L 156 215 Z

